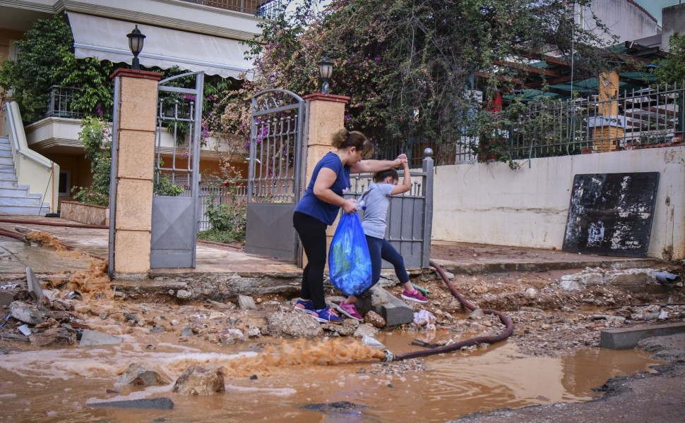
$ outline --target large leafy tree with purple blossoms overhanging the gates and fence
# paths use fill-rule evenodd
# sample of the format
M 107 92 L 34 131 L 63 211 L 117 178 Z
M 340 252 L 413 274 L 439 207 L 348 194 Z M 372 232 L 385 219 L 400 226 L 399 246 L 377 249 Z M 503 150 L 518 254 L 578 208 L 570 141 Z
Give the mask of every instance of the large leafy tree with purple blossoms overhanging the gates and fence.
M 316 13 L 306 0 L 291 15 L 261 24 L 261 36 L 250 43 L 257 68 L 251 90 L 316 91 L 317 63 L 325 52 L 335 63 L 333 92 L 350 97 L 348 126 L 381 144 L 410 137 L 449 140 L 470 115 L 473 104 L 465 88 L 472 87 L 476 73 L 491 75 L 479 83 L 487 93 L 511 92 L 515 82 L 501 62 L 521 57 L 526 63 L 522 51 L 568 54 L 573 49 L 577 77 L 616 65 L 616 57 L 600 49 L 605 44 L 598 33 L 574 22 L 569 4 L 333 0 Z

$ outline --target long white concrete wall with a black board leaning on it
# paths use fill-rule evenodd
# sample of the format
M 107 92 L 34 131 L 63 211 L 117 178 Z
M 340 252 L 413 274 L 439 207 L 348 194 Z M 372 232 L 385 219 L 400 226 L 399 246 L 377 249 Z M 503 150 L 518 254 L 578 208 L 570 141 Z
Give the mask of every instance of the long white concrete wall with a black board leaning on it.
M 561 249 L 573 177 L 660 172 L 648 256 L 685 258 L 685 147 L 436 168 L 434 240 Z

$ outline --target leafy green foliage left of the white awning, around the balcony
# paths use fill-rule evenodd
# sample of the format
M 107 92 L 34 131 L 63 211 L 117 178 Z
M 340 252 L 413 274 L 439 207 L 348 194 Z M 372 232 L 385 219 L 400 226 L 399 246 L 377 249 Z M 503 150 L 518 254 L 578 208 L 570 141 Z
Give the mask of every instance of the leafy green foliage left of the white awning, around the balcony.
M 0 87 L 12 90 L 25 123 L 44 115 L 52 85 L 80 89 L 73 109 L 85 115 L 109 115 L 113 85 L 112 63 L 96 58 L 76 59 L 71 28 L 61 16 L 37 20 L 18 41 L 16 60 L 4 61 Z

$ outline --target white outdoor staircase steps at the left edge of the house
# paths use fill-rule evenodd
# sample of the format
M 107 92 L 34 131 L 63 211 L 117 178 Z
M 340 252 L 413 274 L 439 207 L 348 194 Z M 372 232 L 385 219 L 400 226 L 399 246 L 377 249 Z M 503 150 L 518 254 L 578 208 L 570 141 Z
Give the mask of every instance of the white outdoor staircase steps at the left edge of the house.
M 17 185 L 17 172 L 8 137 L 0 137 L 0 214 L 46 214 L 49 204 L 41 205 L 40 194 L 30 194 L 28 185 Z

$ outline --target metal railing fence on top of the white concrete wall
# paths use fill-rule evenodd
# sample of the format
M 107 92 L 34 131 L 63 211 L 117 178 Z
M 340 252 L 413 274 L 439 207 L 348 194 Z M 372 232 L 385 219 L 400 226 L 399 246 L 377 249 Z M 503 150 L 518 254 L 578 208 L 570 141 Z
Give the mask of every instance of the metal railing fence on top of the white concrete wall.
M 525 104 L 523 109 L 505 108 L 490 116 L 487 130 L 479 126 L 482 120 L 473 119 L 465 121 L 451 139 L 440 142 L 415 137 L 381 143 L 376 157 L 394 159 L 405 152 L 413 168 L 420 166 L 420 152 L 427 147 L 434 150 L 435 164 L 440 166 L 680 142 L 685 130 L 685 86 L 636 88 L 606 99 L 598 95 L 573 100 L 541 99 Z

